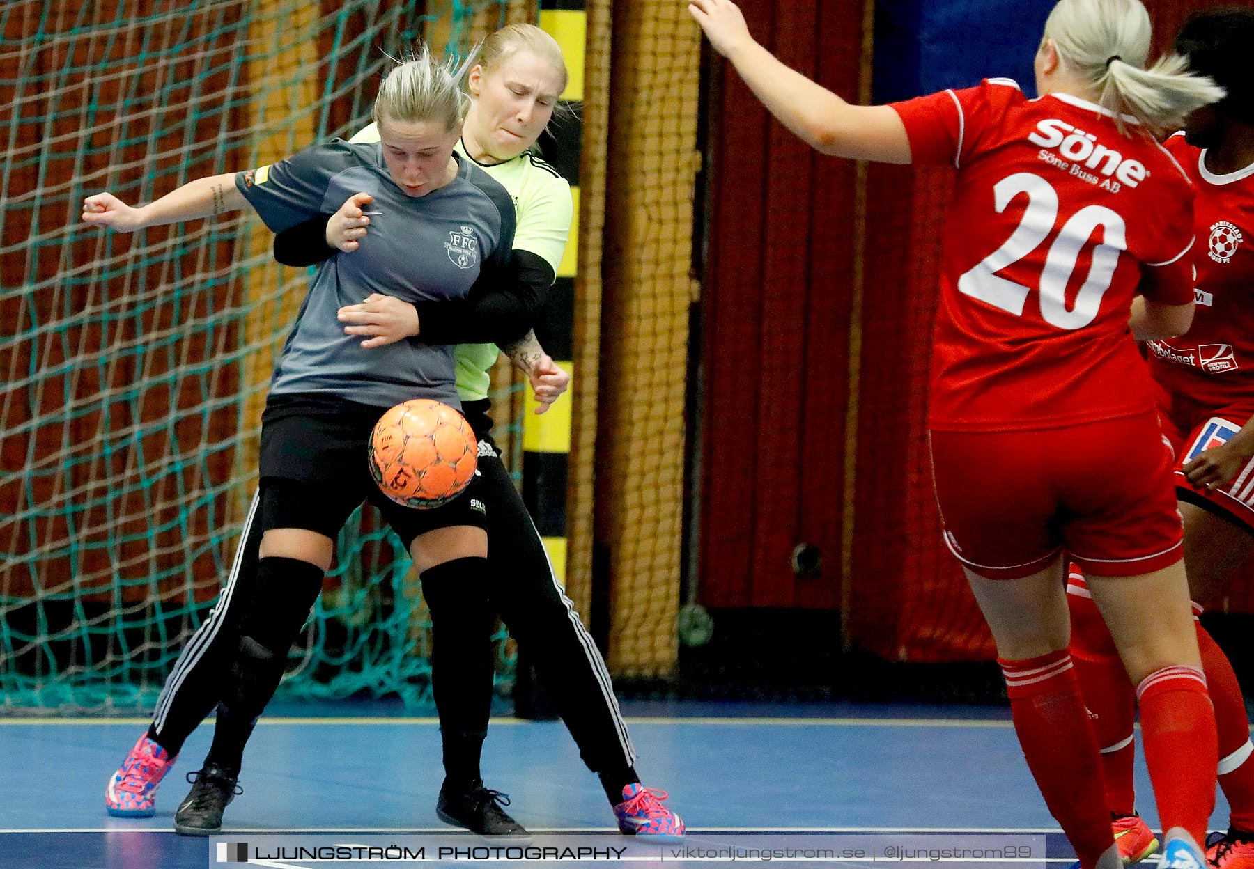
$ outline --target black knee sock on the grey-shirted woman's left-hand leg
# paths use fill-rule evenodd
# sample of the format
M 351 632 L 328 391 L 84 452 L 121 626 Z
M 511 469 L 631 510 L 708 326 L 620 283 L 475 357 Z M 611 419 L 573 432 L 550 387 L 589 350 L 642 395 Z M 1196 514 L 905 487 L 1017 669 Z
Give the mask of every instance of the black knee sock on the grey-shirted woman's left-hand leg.
M 262 558 L 257 588 L 241 626 L 231 680 L 206 764 L 238 772 L 243 746 L 283 677 L 287 650 L 322 591 L 322 569 L 295 558 Z

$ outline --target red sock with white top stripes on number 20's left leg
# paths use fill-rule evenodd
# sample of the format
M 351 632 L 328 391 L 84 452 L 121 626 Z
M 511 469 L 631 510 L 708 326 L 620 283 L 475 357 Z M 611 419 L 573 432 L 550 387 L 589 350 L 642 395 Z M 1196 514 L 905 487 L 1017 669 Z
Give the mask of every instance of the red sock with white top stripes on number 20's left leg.
M 1066 650 L 1027 661 L 998 658 L 1028 769 L 1050 814 L 1091 869 L 1115 841 L 1101 760 Z

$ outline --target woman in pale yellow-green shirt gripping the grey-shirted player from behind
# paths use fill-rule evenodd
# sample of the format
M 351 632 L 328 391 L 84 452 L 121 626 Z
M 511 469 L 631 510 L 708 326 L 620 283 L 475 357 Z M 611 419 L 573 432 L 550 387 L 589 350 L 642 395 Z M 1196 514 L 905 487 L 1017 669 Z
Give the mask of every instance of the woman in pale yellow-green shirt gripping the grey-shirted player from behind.
M 468 76 L 473 104 L 456 150 L 500 181 L 518 202 L 514 265 L 519 285 L 514 293 L 477 297 L 472 293 L 474 303 L 468 306 L 460 301 L 416 302 L 421 335 L 430 342 L 473 340 L 463 334 L 466 322 L 483 324 L 485 329 L 529 322 L 532 307 L 553 282 L 571 227 L 569 186 L 529 150 L 548 124 L 564 87 L 561 49 L 538 28 L 512 25 L 489 36 L 480 56 L 482 63 L 472 66 Z M 371 125 L 354 137 L 357 139 L 372 142 L 377 130 Z M 334 253 L 329 243 L 357 256 L 355 251 L 366 232 L 377 228 L 371 224 L 374 217 L 362 214 L 361 206 L 367 201 L 367 196 L 355 193 L 334 217 L 321 214 L 280 233 L 276 256 L 287 265 L 312 265 Z M 366 211 L 380 208 L 371 203 Z M 336 261 L 346 258 L 350 257 L 340 256 Z M 375 315 L 381 319 L 386 305 L 375 300 L 355 310 L 371 313 L 371 320 Z M 564 381 L 553 376 L 556 366 L 551 366 L 533 339 L 515 341 L 505 350 L 525 366 L 542 401 L 552 400 L 564 389 Z M 480 439 L 480 483 L 487 495 L 492 540 L 489 611 L 499 612 L 518 642 L 529 648 L 584 762 L 601 777 L 619 826 L 645 835 L 663 829 L 682 830 L 682 821 L 661 805 L 657 793 L 640 785 L 633 769 L 636 754 L 604 662 L 562 592 L 527 508 L 492 441 L 487 369 L 495 357 L 495 347 L 478 346 L 458 347 L 455 355 L 463 411 Z M 110 814 L 153 814 L 162 776 L 183 741 L 221 697 L 221 673 L 233 657 L 238 624 L 255 581 L 260 523 L 247 522 L 243 535 L 217 606 L 167 678 L 147 734 L 110 779 L 107 798 Z M 460 624 L 468 633 L 480 631 L 477 618 L 474 612 L 459 611 L 454 613 L 455 624 L 445 619 L 443 627 L 454 629 Z M 478 771 L 492 698 L 487 635 L 473 653 L 468 650 L 455 657 L 440 657 L 433 661 L 433 670 L 441 673 L 441 686 L 455 686 L 451 696 L 441 690 L 436 697 L 449 772 L 440 794 L 441 818 L 480 833 L 507 831 L 513 821 L 492 799 L 494 791 L 483 787 Z M 470 784 L 458 784 L 458 779 L 470 779 Z M 125 801 L 132 795 L 134 800 Z M 130 808 L 134 803 L 140 804 L 138 810 Z

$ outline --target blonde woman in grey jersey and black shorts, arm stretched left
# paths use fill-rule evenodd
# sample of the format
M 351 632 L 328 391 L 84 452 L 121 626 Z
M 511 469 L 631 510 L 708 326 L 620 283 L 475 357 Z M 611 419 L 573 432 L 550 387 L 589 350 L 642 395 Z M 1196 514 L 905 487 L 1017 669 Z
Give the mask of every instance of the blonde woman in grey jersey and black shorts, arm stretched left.
M 262 415 L 256 577 L 221 686 L 213 745 L 176 813 L 178 831 L 219 829 L 238 790 L 245 742 L 321 591 L 335 537 L 362 500 L 380 508 L 414 558 L 439 657 L 474 657 L 492 627 L 479 478 L 449 504 L 414 510 L 379 492 L 362 458 L 385 409 L 414 398 L 460 409 L 453 350 L 421 340 L 415 303 L 464 300 L 477 281 L 513 282 L 510 197 L 453 153 L 469 108 L 465 69 L 441 66 L 425 49 L 394 68 L 375 102 L 380 143 L 314 145 L 273 166 L 193 181 L 142 208 L 109 193 L 84 202 L 84 221 L 123 232 L 246 206 L 281 231 L 360 192 L 382 212 L 370 246 L 320 270 L 275 366 Z M 340 311 L 365 298 L 379 306 L 369 334 L 346 334 Z M 464 629 L 459 613 L 479 613 L 482 631 Z M 438 693 L 441 687 L 438 681 Z M 454 719 L 453 726 L 466 725 Z M 152 746 L 140 754 L 138 764 L 161 764 Z M 145 794 L 122 790 L 143 813 Z

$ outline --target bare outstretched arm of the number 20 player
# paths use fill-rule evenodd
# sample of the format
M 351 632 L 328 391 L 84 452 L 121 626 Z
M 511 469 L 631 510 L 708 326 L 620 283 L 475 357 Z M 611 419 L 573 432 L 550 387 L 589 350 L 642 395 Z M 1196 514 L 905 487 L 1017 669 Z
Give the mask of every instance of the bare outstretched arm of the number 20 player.
M 902 118 L 887 105 L 851 105 L 780 63 L 749 35 L 731 0 L 690 0 L 688 13 L 781 124 L 824 154 L 909 163 Z

